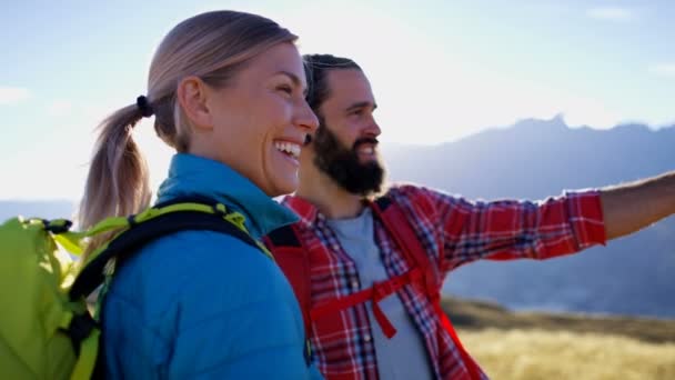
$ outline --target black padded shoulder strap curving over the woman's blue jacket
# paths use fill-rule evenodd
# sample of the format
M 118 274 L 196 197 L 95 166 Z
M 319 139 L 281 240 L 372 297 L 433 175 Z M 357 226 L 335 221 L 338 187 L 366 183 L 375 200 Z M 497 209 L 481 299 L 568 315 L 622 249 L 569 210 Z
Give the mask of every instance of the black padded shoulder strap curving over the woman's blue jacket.
M 150 210 L 161 210 L 171 206 L 181 206 L 183 200 L 164 203 Z M 203 206 L 203 203 L 200 203 Z M 216 210 L 213 208 L 213 210 Z M 228 213 L 221 210 L 212 213 L 190 210 L 189 207 L 169 211 L 138 222 L 129 218 L 129 228 L 112 239 L 100 253 L 82 268 L 70 289 L 70 298 L 75 300 L 89 296 L 105 278 L 105 266 L 110 259 L 125 260 L 133 256 L 144 244 L 161 237 L 184 230 L 206 230 L 231 234 L 256 249 L 262 249 L 248 232 L 225 219 Z

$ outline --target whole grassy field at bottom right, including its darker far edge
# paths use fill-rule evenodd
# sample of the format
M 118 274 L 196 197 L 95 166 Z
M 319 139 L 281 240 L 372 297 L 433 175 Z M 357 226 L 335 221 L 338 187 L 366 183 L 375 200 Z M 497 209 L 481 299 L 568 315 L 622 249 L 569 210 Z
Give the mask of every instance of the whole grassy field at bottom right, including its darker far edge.
M 493 379 L 675 379 L 675 321 L 443 307 Z

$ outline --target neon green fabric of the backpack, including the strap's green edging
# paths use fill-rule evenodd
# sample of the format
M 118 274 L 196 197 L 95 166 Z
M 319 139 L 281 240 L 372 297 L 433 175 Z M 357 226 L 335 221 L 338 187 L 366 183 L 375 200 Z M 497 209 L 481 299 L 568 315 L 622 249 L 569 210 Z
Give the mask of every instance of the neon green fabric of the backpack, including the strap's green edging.
M 226 213 L 223 219 L 242 231 L 244 217 Z M 142 223 L 177 211 L 215 213 L 211 206 L 178 203 L 151 208 L 132 217 Z M 67 220 L 52 220 L 49 226 L 67 229 Z M 67 329 L 74 316 L 88 313 L 85 301 L 71 301 L 69 290 L 78 268 L 68 252 L 80 254 L 85 238 L 115 231 L 89 261 L 105 250 L 111 241 L 129 230 L 128 218 L 109 218 L 88 231 L 46 230 L 41 219 L 17 217 L 0 226 L 0 373 L 3 379 L 89 379 L 99 349 L 98 329 L 82 340 L 77 356 Z M 271 257 L 264 246 L 261 249 Z M 68 251 L 68 252 L 67 252 Z M 89 262 L 88 261 L 88 262 Z M 85 263 L 87 264 L 87 263 Z

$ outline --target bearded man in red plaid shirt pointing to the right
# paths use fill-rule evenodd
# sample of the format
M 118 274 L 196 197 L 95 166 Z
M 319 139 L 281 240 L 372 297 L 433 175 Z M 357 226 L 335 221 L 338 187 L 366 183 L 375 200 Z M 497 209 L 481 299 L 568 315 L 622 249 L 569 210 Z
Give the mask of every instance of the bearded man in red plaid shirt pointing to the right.
M 301 154 L 300 187 L 283 200 L 301 218 L 293 226 L 301 262 L 283 257 L 288 247 L 279 246 L 286 238 L 280 243 L 273 237 L 270 244 L 305 309 L 312 358 L 328 379 L 485 378 L 440 312 L 437 294 L 447 272 L 478 259 L 577 252 L 675 212 L 674 172 L 541 203 L 470 202 L 410 184 L 384 191 L 381 130 L 367 78 L 350 59 L 305 60 L 308 101 L 320 127 Z M 406 239 L 386 226 L 374 206 L 382 199 L 395 204 L 414 231 L 412 240 L 426 260 L 417 267 L 424 273 L 433 267 L 441 280 L 431 283 L 437 289 L 407 276 L 415 268 L 409 252 L 415 249 L 405 249 Z M 306 270 L 299 272 L 302 266 Z

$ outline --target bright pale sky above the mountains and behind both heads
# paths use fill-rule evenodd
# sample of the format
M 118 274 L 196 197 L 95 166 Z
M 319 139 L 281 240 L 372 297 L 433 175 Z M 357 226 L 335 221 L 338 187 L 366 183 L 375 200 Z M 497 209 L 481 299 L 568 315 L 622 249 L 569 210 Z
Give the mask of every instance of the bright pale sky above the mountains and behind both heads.
M 82 193 L 95 126 L 145 93 L 162 37 L 202 11 L 260 13 L 302 53 L 354 59 L 382 143 L 435 144 L 526 118 L 675 124 L 675 1 L 22 1 L 0 13 L 0 199 Z M 137 127 L 153 188 L 171 150 Z

